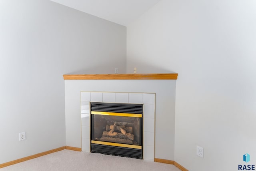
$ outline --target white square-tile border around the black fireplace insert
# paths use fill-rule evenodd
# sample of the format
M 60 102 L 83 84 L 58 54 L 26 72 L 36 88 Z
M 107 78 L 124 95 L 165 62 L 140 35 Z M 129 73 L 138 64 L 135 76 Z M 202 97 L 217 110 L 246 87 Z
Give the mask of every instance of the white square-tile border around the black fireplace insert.
M 143 158 L 154 161 L 155 93 L 81 91 L 82 151 L 86 152 L 90 152 L 90 101 L 144 104 Z

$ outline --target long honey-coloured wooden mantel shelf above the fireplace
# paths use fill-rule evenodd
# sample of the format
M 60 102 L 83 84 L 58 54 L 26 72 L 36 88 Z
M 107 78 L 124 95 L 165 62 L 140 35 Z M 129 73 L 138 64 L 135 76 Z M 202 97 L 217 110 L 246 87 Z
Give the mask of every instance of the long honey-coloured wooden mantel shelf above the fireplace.
M 64 80 L 177 80 L 178 74 L 76 74 Z

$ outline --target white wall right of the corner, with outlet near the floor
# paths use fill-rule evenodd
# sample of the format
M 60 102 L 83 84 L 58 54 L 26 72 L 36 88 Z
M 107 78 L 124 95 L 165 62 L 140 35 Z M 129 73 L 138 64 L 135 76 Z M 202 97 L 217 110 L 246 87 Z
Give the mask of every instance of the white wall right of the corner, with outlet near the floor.
M 127 73 L 179 74 L 174 158 L 190 171 L 256 164 L 255 21 L 254 0 L 162 0 L 127 27 Z

